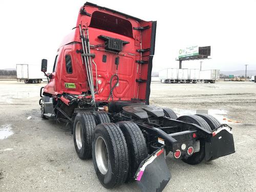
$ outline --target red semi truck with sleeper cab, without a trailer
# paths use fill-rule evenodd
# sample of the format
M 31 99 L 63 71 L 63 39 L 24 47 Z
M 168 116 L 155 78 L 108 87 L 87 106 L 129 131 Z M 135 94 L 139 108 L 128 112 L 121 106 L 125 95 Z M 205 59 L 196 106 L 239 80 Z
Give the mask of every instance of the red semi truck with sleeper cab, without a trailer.
M 70 124 L 78 157 L 92 158 L 106 188 L 136 180 L 163 190 L 168 153 L 191 165 L 234 153 L 228 125 L 149 104 L 156 24 L 86 3 L 50 74 L 41 62 L 41 117 Z

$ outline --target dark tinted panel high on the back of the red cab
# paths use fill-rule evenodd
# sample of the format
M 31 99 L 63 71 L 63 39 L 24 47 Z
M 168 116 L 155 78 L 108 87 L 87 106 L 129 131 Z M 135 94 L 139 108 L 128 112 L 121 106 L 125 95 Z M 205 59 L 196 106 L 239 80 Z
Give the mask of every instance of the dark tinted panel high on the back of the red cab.
M 129 20 L 107 13 L 102 13 L 99 11 L 93 12 L 89 27 L 110 31 L 133 38 L 133 27 Z

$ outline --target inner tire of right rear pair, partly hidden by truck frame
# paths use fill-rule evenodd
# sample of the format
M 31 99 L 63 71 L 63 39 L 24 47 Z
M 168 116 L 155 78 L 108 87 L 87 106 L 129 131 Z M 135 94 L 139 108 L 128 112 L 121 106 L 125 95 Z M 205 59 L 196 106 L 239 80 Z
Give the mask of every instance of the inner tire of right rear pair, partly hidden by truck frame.
M 177 120 L 184 121 L 187 123 L 195 123 L 199 126 L 204 127 L 204 129 L 206 129 L 207 131 L 211 132 L 211 128 L 208 125 L 208 123 L 202 117 L 199 117 L 197 115 L 184 115 L 184 116 L 180 116 Z M 200 151 L 194 153 L 187 159 L 182 159 L 182 161 L 190 165 L 196 165 L 201 163 L 204 160 L 204 157 L 205 157 L 205 141 L 201 139 Z

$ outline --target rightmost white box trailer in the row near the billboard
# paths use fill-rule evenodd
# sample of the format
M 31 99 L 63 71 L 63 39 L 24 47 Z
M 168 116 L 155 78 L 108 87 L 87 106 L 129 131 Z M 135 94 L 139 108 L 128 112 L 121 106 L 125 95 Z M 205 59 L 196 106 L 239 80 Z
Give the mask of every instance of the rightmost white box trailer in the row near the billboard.
M 204 70 L 199 73 L 200 81 L 204 83 L 215 83 L 220 79 L 220 70 Z

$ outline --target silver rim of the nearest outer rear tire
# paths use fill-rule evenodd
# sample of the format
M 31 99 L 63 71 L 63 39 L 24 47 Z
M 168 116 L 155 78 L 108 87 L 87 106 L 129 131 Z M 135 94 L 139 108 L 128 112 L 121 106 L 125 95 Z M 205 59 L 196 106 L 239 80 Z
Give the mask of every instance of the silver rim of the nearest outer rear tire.
M 95 158 L 101 174 L 105 175 L 109 169 L 109 153 L 106 142 L 102 137 L 98 137 L 95 142 Z

